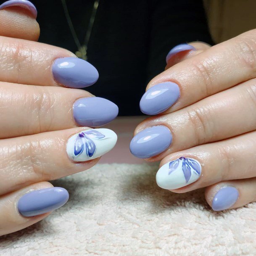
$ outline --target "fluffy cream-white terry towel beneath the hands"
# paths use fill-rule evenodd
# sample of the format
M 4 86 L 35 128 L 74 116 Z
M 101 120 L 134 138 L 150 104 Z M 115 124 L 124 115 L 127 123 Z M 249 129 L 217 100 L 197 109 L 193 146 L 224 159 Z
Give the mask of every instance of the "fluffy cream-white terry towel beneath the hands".
M 65 206 L 0 238 L 1 256 L 255 256 L 256 204 L 214 212 L 203 190 L 156 185 L 157 166 L 98 164 L 53 182 Z

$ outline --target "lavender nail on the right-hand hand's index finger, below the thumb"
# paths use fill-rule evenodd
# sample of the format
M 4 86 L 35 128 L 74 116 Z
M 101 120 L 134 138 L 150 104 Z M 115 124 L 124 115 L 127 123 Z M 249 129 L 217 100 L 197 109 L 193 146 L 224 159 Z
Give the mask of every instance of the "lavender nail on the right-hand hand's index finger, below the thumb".
M 140 110 L 146 115 L 166 111 L 179 98 L 179 86 L 173 82 L 156 84 L 148 89 L 140 100 Z

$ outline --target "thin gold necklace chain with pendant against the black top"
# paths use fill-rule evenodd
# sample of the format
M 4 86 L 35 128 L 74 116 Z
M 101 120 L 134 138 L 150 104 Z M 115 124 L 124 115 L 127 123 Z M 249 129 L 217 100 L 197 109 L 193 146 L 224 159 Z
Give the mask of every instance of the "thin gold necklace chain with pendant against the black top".
M 87 59 L 88 59 L 87 48 L 88 48 L 88 43 L 89 43 L 90 36 L 91 36 L 91 33 L 92 33 L 92 27 L 93 27 L 93 24 L 94 24 L 94 21 L 95 21 L 95 16 L 96 16 L 96 13 L 97 13 L 97 10 L 98 10 L 99 2 L 100 2 L 100 0 L 95 0 L 94 1 L 93 8 L 92 8 L 92 14 L 90 16 L 88 28 L 87 28 L 87 31 L 86 31 L 86 34 L 85 34 L 85 37 L 84 37 L 84 43 L 81 44 L 78 37 L 77 37 L 77 33 L 74 29 L 73 23 L 71 21 L 71 18 L 70 18 L 70 15 L 69 15 L 69 10 L 68 10 L 67 4 L 66 4 L 66 0 L 61 0 L 61 3 L 63 5 L 63 9 L 64 9 L 64 13 L 65 13 L 65 16 L 66 16 L 66 20 L 69 24 L 70 32 L 73 36 L 75 44 L 77 45 L 77 51 L 75 52 L 75 54 L 77 55 L 78 58 L 81 58 L 85 61 L 87 61 Z

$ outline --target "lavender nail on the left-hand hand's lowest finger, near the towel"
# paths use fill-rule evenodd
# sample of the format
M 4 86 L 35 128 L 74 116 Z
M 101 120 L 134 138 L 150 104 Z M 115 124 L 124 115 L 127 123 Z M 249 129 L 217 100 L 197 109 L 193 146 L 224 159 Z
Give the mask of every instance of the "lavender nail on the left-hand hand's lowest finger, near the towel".
M 26 217 L 56 210 L 69 200 L 69 193 L 62 187 L 50 187 L 26 193 L 18 201 L 18 211 Z

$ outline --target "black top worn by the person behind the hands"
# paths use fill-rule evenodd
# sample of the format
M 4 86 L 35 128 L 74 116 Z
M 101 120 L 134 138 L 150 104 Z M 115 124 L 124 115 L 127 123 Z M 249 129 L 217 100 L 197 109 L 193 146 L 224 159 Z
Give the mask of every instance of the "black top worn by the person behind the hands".
M 61 0 L 32 0 L 40 42 L 77 51 Z M 81 43 L 93 0 L 66 0 Z M 88 44 L 88 61 L 100 74 L 86 90 L 119 106 L 119 115 L 140 115 L 150 79 L 164 70 L 169 50 L 184 42 L 212 44 L 202 0 L 100 0 Z

